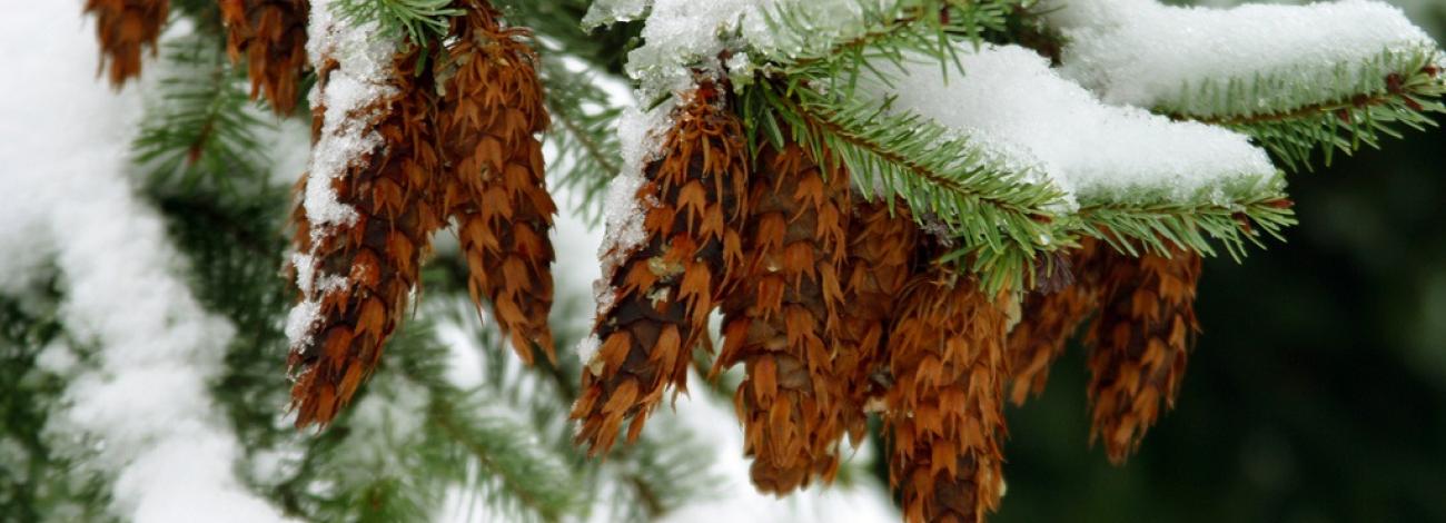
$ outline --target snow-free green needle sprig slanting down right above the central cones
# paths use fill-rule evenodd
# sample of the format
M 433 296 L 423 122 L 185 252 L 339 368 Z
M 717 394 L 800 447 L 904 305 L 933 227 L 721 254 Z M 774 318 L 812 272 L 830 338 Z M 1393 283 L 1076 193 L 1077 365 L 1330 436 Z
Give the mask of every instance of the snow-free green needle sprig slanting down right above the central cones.
M 889 101 L 840 100 L 808 87 L 759 87 L 745 101 L 750 142 L 782 143 L 782 129 L 817 157 L 836 157 L 868 198 L 908 204 L 921 222 L 938 220 L 956 250 L 988 289 L 1028 282 L 1028 262 L 1060 234 L 1050 205 L 1061 194 L 1027 182 L 967 136 L 915 114 L 892 114 Z M 782 92 L 781 92 L 782 91 Z M 791 95 L 790 95 L 791 92 Z

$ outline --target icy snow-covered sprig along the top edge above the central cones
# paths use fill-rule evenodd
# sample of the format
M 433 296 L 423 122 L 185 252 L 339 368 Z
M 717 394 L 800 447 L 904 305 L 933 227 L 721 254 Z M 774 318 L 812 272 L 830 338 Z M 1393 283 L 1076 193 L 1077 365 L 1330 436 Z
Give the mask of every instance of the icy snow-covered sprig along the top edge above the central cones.
M 694 71 L 748 78 L 755 68 L 800 66 L 898 53 L 944 52 L 949 38 L 1002 29 L 1021 0 L 656 0 L 642 29 L 643 45 L 628 55 L 643 100 L 691 84 Z M 613 6 L 642 12 L 638 3 Z M 623 9 L 626 7 L 626 10 Z M 915 26 L 928 27 L 915 33 Z M 742 82 L 740 82 L 742 84 Z

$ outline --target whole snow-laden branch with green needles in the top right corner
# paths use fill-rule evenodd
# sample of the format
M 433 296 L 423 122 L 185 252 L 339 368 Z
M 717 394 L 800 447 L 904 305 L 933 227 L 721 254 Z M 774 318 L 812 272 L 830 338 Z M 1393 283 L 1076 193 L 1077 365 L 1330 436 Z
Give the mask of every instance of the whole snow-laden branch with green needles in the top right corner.
M 1113 104 L 1251 134 L 1287 166 L 1375 146 L 1446 113 L 1436 43 L 1372 0 L 1235 9 L 1155 0 L 1053 0 L 1063 74 Z

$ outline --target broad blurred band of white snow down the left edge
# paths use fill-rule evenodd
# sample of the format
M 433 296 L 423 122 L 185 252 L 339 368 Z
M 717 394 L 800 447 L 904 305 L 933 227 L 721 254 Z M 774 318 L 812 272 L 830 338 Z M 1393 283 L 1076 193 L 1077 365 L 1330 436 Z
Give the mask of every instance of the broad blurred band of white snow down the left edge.
M 241 448 L 208 390 L 233 328 L 201 309 L 159 217 L 133 195 L 124 170 L 140 100 L 95 77 L 81 13 L 80 0 L 38 1 L 0 20 L 0 273 L 52 260 L 65 325 L 97 348 L 52 429 L 93 439 L 94 465 L 116 477 L 116 516 L 279 522 L 234 475 Z

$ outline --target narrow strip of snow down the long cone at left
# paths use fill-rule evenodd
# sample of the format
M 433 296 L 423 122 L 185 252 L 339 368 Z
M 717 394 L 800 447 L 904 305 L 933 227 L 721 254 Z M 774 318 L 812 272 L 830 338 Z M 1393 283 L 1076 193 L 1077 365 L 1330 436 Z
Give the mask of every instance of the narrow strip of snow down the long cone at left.
M 311 147 L 307 166 L 307 191 L 302 208 L 311 224 L 312 246 L 317 247 L 330 228 L 351 224 L 356 209 L 337 199 L 334 182 L 357 162 L 372 156 L 382 146 L 382 136 L 373 129 L 380 117 L 377 101 L 396 94 L 392 85 L 392 61 L 396 42 L 377 38 L 376 22 L 357 23 L 337 10 L 341 1 L 314 0 L 307 33 L 311 64 L 335 61 L 337 68 L 327 75 L 325 85 L 311 90 L 311 104 L 325 107 L 321 134 Z M 318 276 L 312 253 L 296 253 L 296 288 L 305 299 L 286 315 L 286 340 L 291 347 L 302 347 L 317 328 L 321 302 L 327 293 L 346 288 L 341 275 Z

